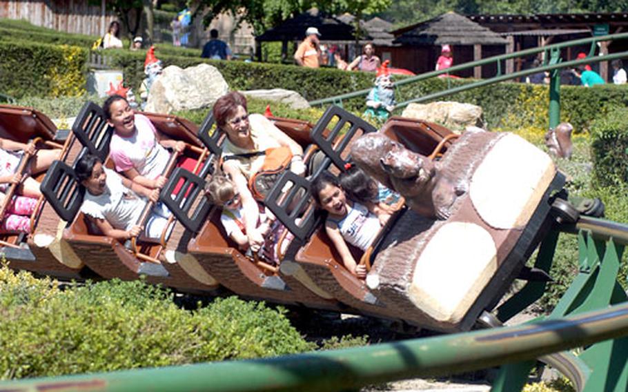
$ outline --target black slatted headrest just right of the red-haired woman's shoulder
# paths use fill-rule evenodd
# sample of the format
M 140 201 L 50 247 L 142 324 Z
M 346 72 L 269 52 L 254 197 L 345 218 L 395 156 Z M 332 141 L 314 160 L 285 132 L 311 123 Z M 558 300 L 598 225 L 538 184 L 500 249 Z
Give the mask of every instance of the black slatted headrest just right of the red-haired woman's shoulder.
M 327 129 L 329 123 L 337 118 L 337 124 L 335 124 L 333 130 L 331 130 L 328 135 L 324 135 L 325 130 Z M 345 124 L 349 123 L 351 127 L 349 130 L 344 133 L 344 135 L 340 135 L 340 131 L 344 128 Z M 359 117 L 355 117 L 350 112 L 347 112 L 343 108 L 339 106 L 329 106 L 327 110 L 325 110 L 322 117 L 317 121 L 314 126 L 311 137 L 312 141 L 322 150 L 322 152 L 331 159 L 331 162 L 340 170 L 344 170 L 344 164 L 349 161 L 349 159 L 342 159 L 342 153 L 346 149 L 346 146 L 349 144 L 349 141 L 355 136 L 358 130 L 362 130 L 363 133 L 373 133 L 377 132 L 377 128 L 367 123 L 363 119 Z M 340 139 L 338 137 L 341 137 Z M 328 167 L 328 165 L 326 165 Z M 320 171 L 324 169 L 316 170 L 316 173 L 313 173 L 312 177 L 316 177 Z

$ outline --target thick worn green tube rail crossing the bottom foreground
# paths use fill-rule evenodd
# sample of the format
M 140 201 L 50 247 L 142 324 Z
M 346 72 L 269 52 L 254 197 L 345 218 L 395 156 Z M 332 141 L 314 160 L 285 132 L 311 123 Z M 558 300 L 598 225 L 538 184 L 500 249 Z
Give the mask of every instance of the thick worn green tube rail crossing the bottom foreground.
M 628 303 L 523 326 L 351 349 L 0 382 L 0 391 L 347 391 L 535 360 L 628 335 Z

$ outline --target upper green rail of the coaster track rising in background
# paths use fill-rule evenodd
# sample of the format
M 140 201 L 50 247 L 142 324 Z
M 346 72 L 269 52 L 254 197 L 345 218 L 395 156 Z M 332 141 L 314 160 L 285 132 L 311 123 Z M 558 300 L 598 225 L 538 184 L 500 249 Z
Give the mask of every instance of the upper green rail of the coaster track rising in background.
M 609 35 L 603 35 L 603 36 L 598 36 L 598 37 L 574 39 L 573 41 L 566 41 L 566 42 L 561 42 L 561 43 L 553 43 L 553 44 L 548 45 L 548 46 L 540 46 L 538 48 L 524 49 L 524 50 L 520 50 L 518 52 L 512 52 L 512 53 L 507 53 L 507 54 L 504 54 L 504 55 L 487 57 L 486 59 L 481 59 L 481 60 L 477 60 L 477 61 L 470 61 L 468 63 L 459 64 L 457 66 L 451 66 L 451 67 L 446 68 L 444 70 L 425 72 L 425 73 L 422 73 L 421 75 L 416 75 L 416 76 L 413 76 L 413 77 L 407 77 L 407 78 L 404 78 L 404 79 L 402 79 L 400 81 L 395 81 L 395 86 L 403 86 L 405 84 L 414 83 L 415 81 L 421 81 L 421 80 L 424 80 L 424 79 L 429 79 L 431 77 L 437 77 L 439 75 L 447 75 L 447 74 L 449 74 L 451 72 L 456 72 L 456 71 L 459 71 L 459 70 L 466 70 L 466 69 L 469 69 L 469 68 L 475 68 L 477 66 L 483 66 L 485 64 L 493 63 L 494 61 L 502 61 L 502 60 L 507 60 L 507 59 L 514 59 L 514 58 L 517 58 L 517 57 L 524 57 L 524 56 L 534 55 L 534 54 L 540 53 L 540 52 L 548 52 L 549 53 L 551 50 L 567 48 L 567 47 L 576 46 L 576 45 L 582 45 L 583 43 L 596 43 L 598 41 L 615 41 L 615 40 L 618 40 L 618 39 L 628 39 L 628 32 L 622 32 L 622 33 L 618 33 L 618 34 L 609 34 Z M 609 59 L 609 56 L 610 55 L 602 56 L 602 61 L 606 61 L 607 59 Z M 581 63 L 585 64 L 585 63 L 596 62 L 596 61 L 591 61 L 593 58 L 595 58 L 595 57 L 587 57 L 586 59 L 582 59 Z M 529 74 L 525 74 L 525 75 L 531 75 L 533 73 L 540 72 L 542 70 L 541 68 L 542 67 L 531 68 L 531 70 L 533 70 L 533 72 L 530 72 Z M 515 72 L 515 73 L 517 73 L 517 72 Z M 513 79 L 514 78 L 513 75 L 515 75 L 515 73 L 503 75 L 503 76 L 507 76 L 506 79 L 504 79 L 504 80 Z M 502 75 L 498 75 L 498 76 L 502 76 Z M 489 80 L 493 80 L 493 79 L 489 79 Z M 494 82 L 495 81 L 493 81 L 493 83 Z M 328 98 L 324 98 L 324 99 L 315 99 L 314 101 L 310 101 L 309 104 L 310 104 L 310 106 L 324 105 L 324 104 L 334 104 L 337 101 L 342 101 L 343 99 L 351 99 L 351 98 L 355 98 L 355 97 L 360 97 L 362 95 L 366 95 L 366 94 L 369 93 L 370 90 L 371 90 L 371 88 L 366 88 L 364 90 L 358 90 L 358 91 L 354 91 L 354 92 L 347 92 L 346 94 L 335 95 L 334 97 L 328 97 Z

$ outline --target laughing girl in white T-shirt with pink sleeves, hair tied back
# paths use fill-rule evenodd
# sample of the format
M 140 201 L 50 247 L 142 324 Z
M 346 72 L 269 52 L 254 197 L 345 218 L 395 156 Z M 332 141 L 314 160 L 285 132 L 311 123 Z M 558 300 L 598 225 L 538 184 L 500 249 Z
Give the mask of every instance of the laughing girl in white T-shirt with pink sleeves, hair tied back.
M 103 104 L 105 117 L 114 133 L 109 144 L 109 156 L 119 173 L 146 188 L 162 188 L 170 153 L 166 148 L 181 153 L 183 141 L 162 140 L 150 119 L 136 114 L 121 95 L 112 95 Z

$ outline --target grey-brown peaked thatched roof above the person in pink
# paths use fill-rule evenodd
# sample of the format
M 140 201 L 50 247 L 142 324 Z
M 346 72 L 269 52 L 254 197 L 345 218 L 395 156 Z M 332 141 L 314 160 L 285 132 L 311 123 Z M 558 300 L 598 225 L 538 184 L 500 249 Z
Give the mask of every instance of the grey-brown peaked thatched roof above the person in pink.
M 400 28 L 392 32 L 393 43 L 405 45 L 503 45 L 504 37 L 455 12 Z

